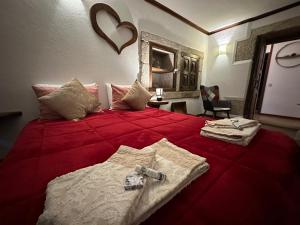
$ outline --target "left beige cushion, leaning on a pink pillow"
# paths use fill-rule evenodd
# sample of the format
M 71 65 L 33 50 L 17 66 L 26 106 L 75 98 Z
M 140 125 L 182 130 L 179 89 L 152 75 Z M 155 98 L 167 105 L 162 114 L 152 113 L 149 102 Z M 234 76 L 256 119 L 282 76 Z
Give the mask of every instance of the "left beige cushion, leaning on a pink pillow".
M 97 98 L 77 79 L 38 100 L 68 120 L 83 118 L 99 106 Z

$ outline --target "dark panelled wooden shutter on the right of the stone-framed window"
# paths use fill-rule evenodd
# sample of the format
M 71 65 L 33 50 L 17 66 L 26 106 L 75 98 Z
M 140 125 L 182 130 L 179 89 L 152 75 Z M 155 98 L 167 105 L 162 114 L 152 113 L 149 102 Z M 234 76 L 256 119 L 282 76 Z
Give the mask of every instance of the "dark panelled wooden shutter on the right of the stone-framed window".
M 200 57 L 182 53 L 180 62 L 180 90 L 194 91 L 197 89 Z

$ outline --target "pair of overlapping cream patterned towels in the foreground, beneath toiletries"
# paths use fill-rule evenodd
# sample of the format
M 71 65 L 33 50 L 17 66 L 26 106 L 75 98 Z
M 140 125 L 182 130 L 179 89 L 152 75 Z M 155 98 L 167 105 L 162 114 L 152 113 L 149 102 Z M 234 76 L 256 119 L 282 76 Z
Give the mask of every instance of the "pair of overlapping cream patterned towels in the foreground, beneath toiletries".
M 166 139 L 143 150 L 121 146 L 106 162 L 51 181 L 37 224 L 139 224 L 206 172 L 205 161 Z M 164 172 L 166 181 L 148 178 L 144 188 L 125 191 L 124 178 L 137 164 Z

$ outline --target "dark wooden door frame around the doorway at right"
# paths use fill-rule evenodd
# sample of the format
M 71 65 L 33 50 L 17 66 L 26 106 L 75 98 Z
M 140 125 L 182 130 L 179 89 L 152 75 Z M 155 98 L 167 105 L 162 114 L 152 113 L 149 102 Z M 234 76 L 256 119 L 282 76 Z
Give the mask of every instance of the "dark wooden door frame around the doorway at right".
M 255 51 L 253 56 L 253 63 L 251 67 L 251 75 L 249 79 L 247 95 L 244 106 L 244 117 L 252 119 L 258 100 L 259 87 L 261 84 L 264 58 L 266 52 L 266 46 L 269 44 L 276 44 L 285 41 L 291 41 L 300 38 L 300 26 L 288 28 L 280 31 L 271 31 L 266 34 L 257 36 Z

